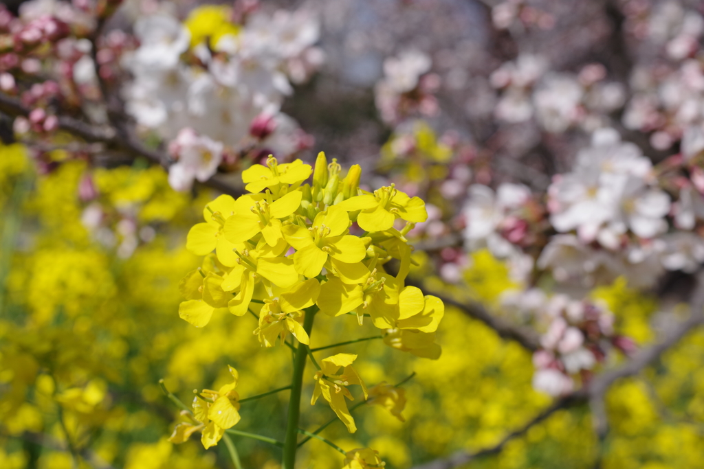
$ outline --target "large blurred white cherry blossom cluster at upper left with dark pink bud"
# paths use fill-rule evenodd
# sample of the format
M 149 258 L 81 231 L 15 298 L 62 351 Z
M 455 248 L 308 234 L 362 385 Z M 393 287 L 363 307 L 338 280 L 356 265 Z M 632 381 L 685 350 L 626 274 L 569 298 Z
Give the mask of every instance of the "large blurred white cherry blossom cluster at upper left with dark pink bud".
M 170 168 L 174 188 L 212 176 L 223 148 L 281 158 L 305 148 L 306 134 L 280 108 L 291 82 L 305 81 L 322 63 L 314 46 L 319 30 L 306 11 L 251 13 L 203 41 L 163 11 L 137 20 L 139 47 L 123 59 L 133 77 L 122 90 L 125 108 L 181 148 Z

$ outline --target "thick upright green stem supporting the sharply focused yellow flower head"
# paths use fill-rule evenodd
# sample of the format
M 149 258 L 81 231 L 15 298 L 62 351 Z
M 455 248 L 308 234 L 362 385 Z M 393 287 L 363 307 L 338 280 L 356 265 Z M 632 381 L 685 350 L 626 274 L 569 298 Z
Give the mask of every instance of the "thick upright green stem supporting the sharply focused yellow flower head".
M 310 337 L 313 329 L 313 319 L 318 307 L 313 305 L 306 308 L 306 317 L 303 319 L 303 330 Z M 294 359 L 294 375 L 291 379 L 291 399 L 289 400 L 289 418 L 286 426 L 286 439 L 284 442 L 284 455 L 282 458 L 283 469 L 294 469 L 296 464 L 296 449 L 298 449 L 298 417 L 301 414 L 301 394 L 303 388 L 303 371 L 306 369 L 308 346 L 298 342 L 296 357 Z

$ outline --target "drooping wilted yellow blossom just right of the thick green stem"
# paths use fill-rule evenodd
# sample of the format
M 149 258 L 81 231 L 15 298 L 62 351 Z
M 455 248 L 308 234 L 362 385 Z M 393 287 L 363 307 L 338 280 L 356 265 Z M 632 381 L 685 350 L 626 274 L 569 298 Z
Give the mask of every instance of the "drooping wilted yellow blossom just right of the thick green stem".
M 322 395 L 328 404 L 338 416 L 342 423 L 345 424 L 350 433 L 357 431 L 357 426 L 354 423 L 345 397 L 354 400 L 347 386 L 360 385 L 364 398 L 367 399 L 367 387 L 362 378 L 352 368 L 352 362 L 357 358 L 354 354 L 337 354 L 328 356 L 327 359 L 322 359 L 320 362 L 320 370 L 315 373 L 315 390 L 313 390 L 313 399 L 310 399 L 310 405 L 314 405 L 318 401 L 318 397 Z M 340 368 L 344 368 L 341 375 L 336 374 Z

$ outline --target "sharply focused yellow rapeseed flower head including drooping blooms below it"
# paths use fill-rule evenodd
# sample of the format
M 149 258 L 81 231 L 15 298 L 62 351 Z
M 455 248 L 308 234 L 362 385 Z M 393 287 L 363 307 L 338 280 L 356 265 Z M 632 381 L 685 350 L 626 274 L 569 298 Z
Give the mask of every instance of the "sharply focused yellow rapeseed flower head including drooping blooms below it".
M 279 165 L 272 157 L 266 165 L 246 169 L 242 179 L 250 193 L 237 199 L 220 195 L 203 210 L 204 222 L 189 231 L 187 248 L 204 260 L 180 283 L 182 319 L 203 327 L 213 314 L 249 311 L 258 316 L 253 333 L 264 347 L 274 347 L 277 339 L 288 345 L 289 334 L 305 347 L 315 312 L 353 314 L 360 326 L 369 317 L 387 345 L 438 359 L 441 349 L 434 339 L 444 304 L 405 285 L 412 252 L 405 235 L 427 219 L 425 203 L 393 185 L 362 191 L 360 172 L 354 165 L 341 176 L 337 161 L 328 164 L 323 153 L 315 170 L 301 160 Z M 311 174 L 312 184 L 304 184 Z M 367 387 L 352 367 L 356 358 L 336 354 L 316 363 L 311 399 L 311 404 L 325 399 L 349 432 L 357 428 L 346 404 L 353 399 L 347 387 L 360 385 L 367 398 Z M 218 396 L 213 406 L 225 399 L 222 392 Z M 400 417 L 402 399 L 379 390 L 377 401 Z M 239 418 L 219 422 L 211 411 L 207 419 L 198 418 L 197 413 L 205 415 L 202 406 L 196 398 L 196 420 L 201 426 L 208 425 L 207 419 L 215 424 L 215 430 L 201 430 L 208 447 Z M 173 441 L 183 439 L 182 425 Z

